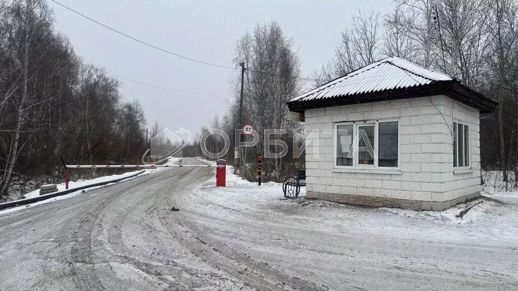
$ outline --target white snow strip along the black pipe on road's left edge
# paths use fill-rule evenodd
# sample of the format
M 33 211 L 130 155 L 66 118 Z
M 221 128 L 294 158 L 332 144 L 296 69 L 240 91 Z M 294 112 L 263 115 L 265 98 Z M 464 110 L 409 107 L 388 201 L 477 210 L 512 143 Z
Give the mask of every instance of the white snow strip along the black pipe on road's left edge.
M 180 162 L 180 160 L 181 160 L 181 158 L 171 157 L 171 158 L 168 159 L 166 165 L 177 165 Z M 164 169 L 165 168 L 146 169 L 139 176 L 150 174 L 150 173 L 155 172 L 155 171 L 161 171 L 161 170 L 164 170 Z M 106 182 L 106 181 L 110 181 L 110 180 L 116 180 L 116 179 L 119 179 L 119 178 L 132 176 L 133 174 L 138 173 L 140 171 L 142 171 L 142 170 L 125 172 L 125 173 L 122 173 L 122 174 L 115 174 L 115 175 L 109 175 L 109 176 L 102 176 L 102 177 L 97 177 L 97 178 L 94 178 L 94 179 L 79 179 L 77 181 L 69 181 L 68 182 L 68 188 L 69 189 L 73 189 L 73 188 L 77 188 L 77 187 L 81 187 L 81 186 L 85 186 L 85 185 L 101 183 L 101 182 Z M 133 178 L 129 178 L 129 179 L 133 179 Z M 110 184 L 107 184 L 107 185 L 112 185 L 112 184 L 113 183 L 110 183 Z M 26 209 L 28 207 L 42 205 L 42 204 L 53 202 L 53 201 L 57 201 L 57 200 L 63 200 L 63 199 L 75 197 L 75 196 L 77 196 L 77 195 L 79 195 L 81 193 L 92 191 L 94 189 L 105 187 L 107 185 L 86 188 L 86 189 L 79 190 L 79 191 L 76 191 L 76 192 L 72 192 L 72 193 L 69 193 L 69 194 L 65 194 L 65 195 L 62 195 L 62 196 L 57 196 L 57 197 L 49 198 L 47 200 L 42 200 L 42 201 L 34 202 L 34 203 L 31 203 L 31 204 L 28 204 L 28 205 L 23 205 L 23 206 L 12 207 L 12 208 L 9 208 L 9 209 L 0 210 L 0 215 L 5 214 L 5 213 L 10 213 L 10 212 L 18 211 L 18 210 L 22 210 L 22 209 Z M 57 184 L 56 186 L 57 186 L 57 190 L 58 191 L 66 190 L 64 182 L 61 183 L 61 184 Z M 39 188 L 23 195 L 24 198 L 33 198 L 33 197 L 38 197 L 38 196 L 39 196 Z

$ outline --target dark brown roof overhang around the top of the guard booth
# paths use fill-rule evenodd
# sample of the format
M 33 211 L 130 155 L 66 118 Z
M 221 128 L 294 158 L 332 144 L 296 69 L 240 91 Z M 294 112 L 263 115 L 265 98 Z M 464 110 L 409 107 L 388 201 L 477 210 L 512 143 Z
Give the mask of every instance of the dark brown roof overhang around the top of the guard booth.
M 487 98 L 477 91 L 469 89 L 457 80 L 433 81 L 429 84 L 409 88 L 389 89 L 377 92 L 359 93 L 346 96 L 319 98 L 312 100 L 289 101 L 290 111 L 303 112 L 307 109 L 324 108 L 378 101 L 408 99 L 434 95 L 445 95 L 465 105 L 479 110 L 481 113 L 494 112 L 497 101 Z

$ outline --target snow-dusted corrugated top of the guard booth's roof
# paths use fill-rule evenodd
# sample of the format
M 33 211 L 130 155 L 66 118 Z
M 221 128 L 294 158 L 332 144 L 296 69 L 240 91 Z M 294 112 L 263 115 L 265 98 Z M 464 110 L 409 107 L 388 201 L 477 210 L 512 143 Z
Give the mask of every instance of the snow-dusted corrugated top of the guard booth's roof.
M 350 72 L 290 102 L 409 88 L 449 80 L 453 78 L 393 56 Z

